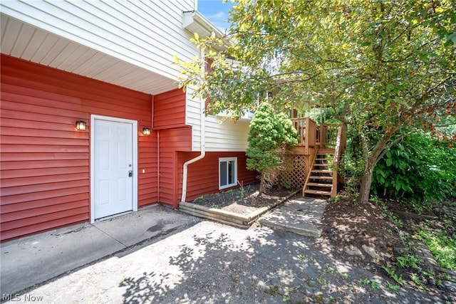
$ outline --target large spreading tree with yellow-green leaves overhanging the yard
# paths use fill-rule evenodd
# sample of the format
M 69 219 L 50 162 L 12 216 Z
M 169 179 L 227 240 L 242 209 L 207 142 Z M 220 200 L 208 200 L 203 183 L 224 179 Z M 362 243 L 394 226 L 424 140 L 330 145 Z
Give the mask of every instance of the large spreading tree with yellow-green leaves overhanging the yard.
M 194 39 L 211 73 L 202 75 L 199 60 L 180 63 L 181 85 L 234 117 L 264 90 L 278 90 L 276 107 L 331 108 L 356 130 L 361 202 L 375 165 L 408 132 L 456 140 L 435 128 L 456 116 L 453 1 L 239 0 L 231 14 L 227 37 Z M 212 51 L 214 44 L 227 51 Z

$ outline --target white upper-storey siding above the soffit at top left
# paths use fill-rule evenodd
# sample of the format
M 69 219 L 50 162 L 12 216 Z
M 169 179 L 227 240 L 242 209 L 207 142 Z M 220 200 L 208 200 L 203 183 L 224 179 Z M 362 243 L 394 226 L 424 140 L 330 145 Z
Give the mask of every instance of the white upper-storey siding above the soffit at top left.
M 172 56 L 199 53 L 182 29 L 193 9 L 195 0 L 1 1 L 3 14 L 173 80 Z

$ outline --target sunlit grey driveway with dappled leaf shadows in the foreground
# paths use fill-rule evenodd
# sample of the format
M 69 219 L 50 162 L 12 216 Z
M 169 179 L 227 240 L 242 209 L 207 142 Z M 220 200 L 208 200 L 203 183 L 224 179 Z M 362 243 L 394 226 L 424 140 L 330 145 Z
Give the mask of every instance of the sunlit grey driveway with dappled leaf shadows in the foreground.
M 318 248 L 315 239 L 264 226 L 243 230 L 212 221 L 195 221 L 194 225 L 27 290 L 13 300 L 445 303 L 448 296 L 410 288 L 393 293 L 386 287 L 388 282 L 375 276 L 372 269 L 341 261 L 331 251 Z

